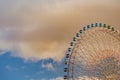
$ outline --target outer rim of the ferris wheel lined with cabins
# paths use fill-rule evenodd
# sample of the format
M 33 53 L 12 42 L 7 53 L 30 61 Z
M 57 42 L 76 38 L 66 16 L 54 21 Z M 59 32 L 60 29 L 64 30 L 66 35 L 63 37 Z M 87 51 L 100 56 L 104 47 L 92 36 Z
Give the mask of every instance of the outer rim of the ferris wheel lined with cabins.
M 72 75 L 70 75 L 69 67 L 70 67 L 70 63 L 71 63 L 70 62 L 71 56 L 73 55 L 72 51 L 73 51 L 74 46 L 75 46 L 74 43 L 77 41 L 77 38 L 81 37 L 81 34 L 83 34 L 84 32 L 86 32 L 88 29 L 96 28 L 96 27 L 103 28 L 103 29 L 106 29 L 106 30 L 110 30 L 111 32 L 113 32 L 116 35 L 119 35 L 119 37 L 120 37 L 119 31 L 115 30 L 115 28 L 111 27 L 110 25 L 106 25 L 106 24 L 102 24 L 102 23 L 95 23 L 95 24 L 90 24 L 90 25 L 87 25 L 86 27 L 83 27 L 83 29 L 80 30 L 76 34 L 76 36 L 73 38 L 73 41 L 70 43 L 71 47 L 68 48 L 69 54 L 66 54 L 66 60 L 68 60 L 68 62 L 66 62 L 66 60 L 65 60 L 65 64 L 67 65 L 67 68 L 64 68 L 64 72 L 67 72 L 67 75 L 64 76 L 65 80 L 73 79 L 73 73 L 72 73 Z M 118 37 L 118 39 L 119 39 L 119 37 Z M 72 64 L 74 64 L 74 63 L 72 63 Z

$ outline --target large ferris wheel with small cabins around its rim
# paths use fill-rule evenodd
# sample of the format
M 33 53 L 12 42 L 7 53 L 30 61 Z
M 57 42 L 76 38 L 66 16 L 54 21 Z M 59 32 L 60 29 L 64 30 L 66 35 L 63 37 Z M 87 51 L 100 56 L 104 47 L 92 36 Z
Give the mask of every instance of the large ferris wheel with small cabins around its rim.
M 64 80 L 120 80 L 120 33 L 95 23 L 81 29 L 68 48 Z

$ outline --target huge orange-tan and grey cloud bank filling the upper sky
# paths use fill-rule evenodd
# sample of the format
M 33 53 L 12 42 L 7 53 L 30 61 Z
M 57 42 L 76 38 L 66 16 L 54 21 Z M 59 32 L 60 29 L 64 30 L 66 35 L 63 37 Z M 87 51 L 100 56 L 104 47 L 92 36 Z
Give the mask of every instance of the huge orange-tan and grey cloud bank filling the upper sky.
M 120 29 L 118 0 L 1 0 L 0 6 L 0 49 L 25 60 L 61 61 L 73 35 L 92 22 Z

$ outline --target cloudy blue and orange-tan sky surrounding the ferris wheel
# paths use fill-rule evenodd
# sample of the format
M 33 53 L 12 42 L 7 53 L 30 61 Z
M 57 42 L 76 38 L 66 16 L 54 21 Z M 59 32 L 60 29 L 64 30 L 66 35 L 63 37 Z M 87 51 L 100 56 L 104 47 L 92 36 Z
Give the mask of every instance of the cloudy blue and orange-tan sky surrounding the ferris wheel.
M 120 0 L 0 0 L 0 80 L 63 80 L 76 32 L 119 21 Z

